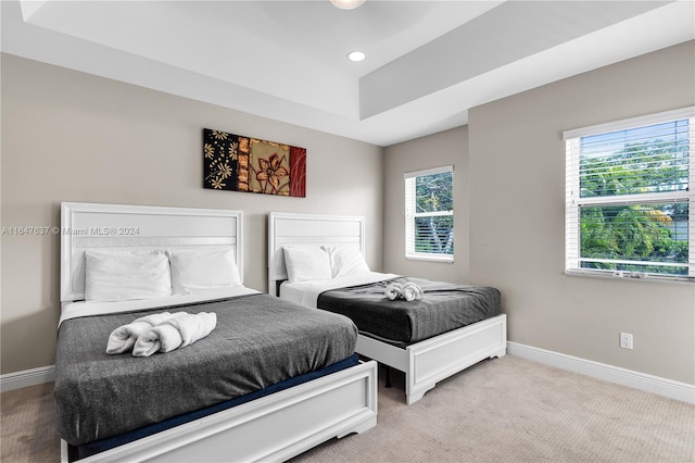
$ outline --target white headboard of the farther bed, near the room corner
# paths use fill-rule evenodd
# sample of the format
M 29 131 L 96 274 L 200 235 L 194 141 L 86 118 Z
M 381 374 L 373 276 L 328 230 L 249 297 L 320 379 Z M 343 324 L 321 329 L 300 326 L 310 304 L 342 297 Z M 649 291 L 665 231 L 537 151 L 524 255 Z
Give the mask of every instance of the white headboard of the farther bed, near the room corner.
M 287 279 L 285 246 L 353 247 L 365 253 L 365 217 L 356 215 L 268 214 L 268 292 Z

